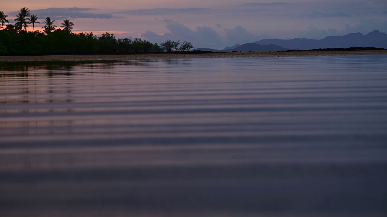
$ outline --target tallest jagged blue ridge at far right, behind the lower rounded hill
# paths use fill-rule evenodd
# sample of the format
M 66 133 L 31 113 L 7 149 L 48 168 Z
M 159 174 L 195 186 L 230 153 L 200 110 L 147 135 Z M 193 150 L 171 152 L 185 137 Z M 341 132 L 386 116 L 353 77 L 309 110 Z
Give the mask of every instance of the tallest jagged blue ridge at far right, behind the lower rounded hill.
M 255 44 L 276 44 L 282 47 L 296 47 L 301 50 L 312 50 L 328 47 L 387 47 L 387 34 L 375 30 L 366 35 L 350 33 L 345 36 L 327 36 L 324 39 L 295 38 L 283 39 L 263 39 L 254 42 Z

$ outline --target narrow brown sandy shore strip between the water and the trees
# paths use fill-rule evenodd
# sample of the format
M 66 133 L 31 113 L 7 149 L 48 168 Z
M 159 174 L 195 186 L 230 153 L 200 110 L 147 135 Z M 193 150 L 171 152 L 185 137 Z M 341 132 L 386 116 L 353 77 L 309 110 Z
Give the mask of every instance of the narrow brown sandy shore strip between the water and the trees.
M 1 56 L 0 62 L 35 61 L 106 61 L 106 60 L 148 60 L 148 59 L 192 59 L 192 58 L 240 58 L 240 57 L 301 57 L 301 56 L 357 56 L 386 55 L 382 51 L 281 51 L 241 53 L 193 53 L 193 54 L 94 54 L 94 55 L 53 55 L 53 56 Z

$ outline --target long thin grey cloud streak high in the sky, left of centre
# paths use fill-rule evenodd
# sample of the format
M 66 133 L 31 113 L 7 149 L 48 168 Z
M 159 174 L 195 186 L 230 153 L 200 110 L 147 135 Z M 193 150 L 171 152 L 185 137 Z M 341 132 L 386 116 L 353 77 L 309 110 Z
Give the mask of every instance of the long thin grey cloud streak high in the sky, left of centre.
M 155 8 L 141 10 L 125 10 L 117 12 L 119 14 L 129 15 L 167 15 L 167 14 L 210 14 L 209 8 Z

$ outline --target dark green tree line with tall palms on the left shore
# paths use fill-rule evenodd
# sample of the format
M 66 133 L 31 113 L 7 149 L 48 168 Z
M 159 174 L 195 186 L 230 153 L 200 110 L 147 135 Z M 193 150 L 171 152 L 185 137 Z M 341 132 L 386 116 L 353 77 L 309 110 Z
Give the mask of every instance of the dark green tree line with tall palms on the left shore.
M 30 13 L 28 8 L 21 8 L 14 19 L 15 24 L 9 24 L 8 15 L 0 11 L 0 54 L 112 54 L 112 53 L 160 53 L 174 51 L 189 51 L 194 48 L 190 42 L 167 40 L 161 44 L 153 44 L 141 38 L 117 39 L 114 34 L 106 32 L 101 37 L 92 32 L 72 32 L 74 23 L 65 19 L 62 29 L 56 28 L 55 20 L 46 17 L 42 22 L 43 30 L 35 30 L 38 17 Z M 8 23 L 8 25 L 5 25 Z M 27 31 L 32 24 L 33 31 Z

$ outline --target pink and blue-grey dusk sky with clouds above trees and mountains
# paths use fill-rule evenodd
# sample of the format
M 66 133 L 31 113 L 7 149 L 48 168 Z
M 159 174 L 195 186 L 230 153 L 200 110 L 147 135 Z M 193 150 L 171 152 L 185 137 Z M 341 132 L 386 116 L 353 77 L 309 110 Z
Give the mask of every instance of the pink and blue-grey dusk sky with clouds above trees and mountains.
M 387 32 L 387 0 L 0 0 L 11 24 L 22 7 L 43 22 L 65 19 L 73 32 L 191 42 L 223 49 L 261 39 L 322 39 Z M 36 24 L 40 29 L 42 24 Z M 31 25 L 32 27 L 32 25 Z M 31 28 L 32 29 L 32 28 Z

